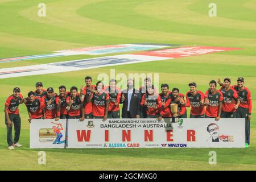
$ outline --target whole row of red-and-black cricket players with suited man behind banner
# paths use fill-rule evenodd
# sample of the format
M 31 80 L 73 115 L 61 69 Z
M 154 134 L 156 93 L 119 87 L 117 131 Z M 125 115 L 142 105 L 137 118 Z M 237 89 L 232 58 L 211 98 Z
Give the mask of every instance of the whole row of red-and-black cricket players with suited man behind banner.
M 86 86 L 80 90 L 76 86 L 67 89 L 64 85 L 57 92 L 52 87 L 43 89 L 43 83 L 37 82 L 35 91 L 28 92 L 23 97 L 20 88 L 13 89 L 13 94 L 5 102 L 5 123 L 7 127 L 7 143 L 9 150 L 21 147 L 18 143 L 20 135 L 19 105 L 25 104 L 28 111 L 28 121 L 32 119 L 74 119 L 79 118 L 245 118 L 246 147 L 250 144 L 251 93 L 244 86 L 244 79 L 239 77 L 236 85 L 231 85 L 230 78 L 222 83 L 210 81 L 206 92 L 197 90 L 197 84 L 188 84 L 189 91 L 184 95 L 178 88 L 169 89 L 168 84 L 161 85 L 162 93 L 154 88 L 151 79 L 146 77 L 143 86 L 134 88 L 134 80 L 127 80 L 127 88 L 117 88 L 117 82 L 112 79 L 108 86 L 98 81 L 92 85 L 92 78 L 85 77 Z M 220 89 L 217 89 L 217 84 Z M 122 104 L 120 114 L 119 105 Z M 176 106 L 176 107 L 173 107 Z M 175 109 L 176 108 L 176 109 Z M 14 125 L 15 136 L 12 136 Z

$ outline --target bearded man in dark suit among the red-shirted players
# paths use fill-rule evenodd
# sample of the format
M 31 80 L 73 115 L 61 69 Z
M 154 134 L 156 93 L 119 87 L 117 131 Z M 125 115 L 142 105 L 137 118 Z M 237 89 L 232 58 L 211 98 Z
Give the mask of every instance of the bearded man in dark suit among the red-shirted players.
M 122 90 L 120 104 L 123 104 L 122 118 L 139 118 L 141 115 L 141 94 L 134 88 L 134 80 L 127 80 L 127 89 Z

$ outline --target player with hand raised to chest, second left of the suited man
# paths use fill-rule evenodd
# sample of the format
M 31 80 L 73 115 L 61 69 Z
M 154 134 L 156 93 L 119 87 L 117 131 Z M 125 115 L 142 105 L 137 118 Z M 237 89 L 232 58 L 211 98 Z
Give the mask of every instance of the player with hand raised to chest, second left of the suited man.
M 104 84 L 101 81 L 97 82 L 96 90 L 90 90 L 87 101 L 93 104 L 93 118 L 103 118 L 103 121 L 106 121 L 109 111 L 109 94 L 104 90 Z

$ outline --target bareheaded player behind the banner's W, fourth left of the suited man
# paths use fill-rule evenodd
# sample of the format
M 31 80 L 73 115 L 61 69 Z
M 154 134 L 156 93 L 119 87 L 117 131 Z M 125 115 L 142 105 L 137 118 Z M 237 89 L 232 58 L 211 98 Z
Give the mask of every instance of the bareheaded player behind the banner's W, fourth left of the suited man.
M 66 102 L 68 104 L 68 118 L 69 119 L 80 119 L 80 121 L 84 121 L 84 118 L 81 117 L 81 106 L 83 98 L 80 97 L 80 94 L 77 93 L 77 87 L 72 86 L 70 89 L 71 96 L 68 96 Z

